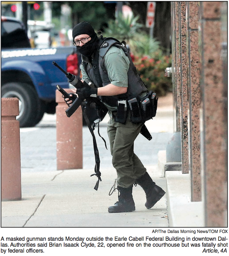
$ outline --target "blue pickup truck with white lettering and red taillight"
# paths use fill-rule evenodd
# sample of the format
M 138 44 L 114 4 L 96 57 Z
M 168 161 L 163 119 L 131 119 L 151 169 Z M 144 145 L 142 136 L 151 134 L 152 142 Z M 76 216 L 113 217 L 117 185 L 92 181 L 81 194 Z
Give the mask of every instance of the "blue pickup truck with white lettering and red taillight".
M 79 76 L 76 47 L 31 48 L 22 22 L 1 17 L 1 97 L 19 99 L 20 127 L 39 123 L 44 113 L 55 114 L 56 85 L 68 80 L 52 62 Z

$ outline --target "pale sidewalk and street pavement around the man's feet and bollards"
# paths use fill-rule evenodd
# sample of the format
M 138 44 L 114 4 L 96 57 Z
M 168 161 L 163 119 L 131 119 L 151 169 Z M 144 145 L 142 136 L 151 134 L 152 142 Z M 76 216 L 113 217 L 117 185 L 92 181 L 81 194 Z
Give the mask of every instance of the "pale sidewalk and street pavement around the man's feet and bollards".
M 100 124 L 100 134 L 108 143 L 107 118 Z M 139 135 L 135 153 L 152 179 L 166 191 L 166 180 L 158 169 L 158 152 L 166 149 L 173 134 L 172 95 L 158 102 L 157 115 L 146 123 L 153 139 Z M 34 128 L 21 128 L 22 200 L 2 202 L 2 227 L 168 227 L 166 195 L 148 210 L 141 187 L 133 188 L 135 212 L 108 213 L 117 201 L 117 191 L 109 196 L 116 179 L 110 152 L 95 132 L 102 182 L 94 190 L 92 138 L 83 127 L 83 169 L 56 171 L 55 115 L 45 115 Z M 46 139 L 44 139 L 46 137 Z M 31 138 L 33 142 L 31 143 Z

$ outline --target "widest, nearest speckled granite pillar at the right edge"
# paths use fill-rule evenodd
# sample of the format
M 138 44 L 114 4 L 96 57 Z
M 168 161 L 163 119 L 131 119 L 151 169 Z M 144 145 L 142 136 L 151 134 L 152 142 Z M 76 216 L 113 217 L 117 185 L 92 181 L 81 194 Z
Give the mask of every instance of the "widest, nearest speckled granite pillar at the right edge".
M 199 3 L 205 226 L 227 227 L 227 123 L 224 118 L 221 33 L 223 2 Z

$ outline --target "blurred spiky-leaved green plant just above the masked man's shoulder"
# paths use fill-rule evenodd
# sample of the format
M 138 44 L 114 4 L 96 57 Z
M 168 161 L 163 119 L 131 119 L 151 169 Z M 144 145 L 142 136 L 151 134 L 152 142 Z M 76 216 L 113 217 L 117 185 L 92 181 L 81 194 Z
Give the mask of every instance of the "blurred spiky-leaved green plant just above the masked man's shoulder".
M 127 43 L 130 39 L 135 37 L 135 34 L 139 28 L 143 25 L 137 23 L 139 16 L 122 16 L 122 13 L 118 13 L 117 19 L 108 21 L 108 28 L 105 29 L 104 37 L 114 37 L 119 41 L 125 40 Z

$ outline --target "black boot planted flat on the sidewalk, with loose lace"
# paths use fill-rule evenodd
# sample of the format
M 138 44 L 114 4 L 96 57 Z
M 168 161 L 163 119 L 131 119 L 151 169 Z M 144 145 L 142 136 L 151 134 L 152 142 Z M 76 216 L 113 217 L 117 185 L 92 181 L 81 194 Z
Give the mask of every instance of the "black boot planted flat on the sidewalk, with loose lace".
M 118 202 L 113 206 L 108 207 L 108 212 L 133 212 L 135 211 L 135 204 L 132 197 L 133 185 L 125 189 L 117 186 L 119 191 Z

